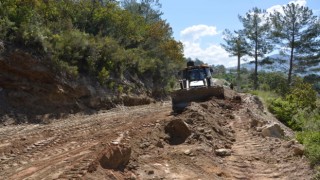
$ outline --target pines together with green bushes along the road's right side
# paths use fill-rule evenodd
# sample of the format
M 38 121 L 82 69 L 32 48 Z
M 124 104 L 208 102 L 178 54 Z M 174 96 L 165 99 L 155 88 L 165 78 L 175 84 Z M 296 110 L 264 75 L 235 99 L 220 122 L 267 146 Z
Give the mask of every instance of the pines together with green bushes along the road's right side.
M 306 6 L 289 3 L 282 12 L 254 7 L 239 15 L 239 21 L 243 28 L 226 29 L 222 44 L 238 58 L 237 69 L 215 76 L 237 85 L 238 91 L 260 96 L 270 112 L 296 131 L 320 178 L 320 17 Z M 274 62 L 265 58 L 270 52 L 284 57 L 276 61 L 286 62 L 285 70 L 258 71 L 259 66 Z M 252 72 L 240 67 L 240 61 L 248 58 L 253 59 Z

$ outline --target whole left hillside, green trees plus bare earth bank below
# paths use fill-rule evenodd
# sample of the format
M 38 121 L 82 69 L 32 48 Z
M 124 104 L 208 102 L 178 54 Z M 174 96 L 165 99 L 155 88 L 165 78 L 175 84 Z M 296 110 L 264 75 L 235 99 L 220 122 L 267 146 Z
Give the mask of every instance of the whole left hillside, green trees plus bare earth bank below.
M 1 2 L 0 123 L 42 123 L 166 98 L 184 58 L 155 7 Z

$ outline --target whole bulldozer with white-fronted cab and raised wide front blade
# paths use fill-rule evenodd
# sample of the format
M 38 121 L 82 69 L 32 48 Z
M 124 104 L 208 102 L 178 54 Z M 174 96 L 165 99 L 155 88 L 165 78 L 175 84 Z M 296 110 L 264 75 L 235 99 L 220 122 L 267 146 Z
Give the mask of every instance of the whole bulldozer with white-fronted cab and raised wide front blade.
M 180 89 L 171 93 L 173 112 L 182 112 L 191 102 L 224 98 L 223 86 L 214 82 L 212 72 L 208 65 L 187 62 L 187 67 L 178 73 Z

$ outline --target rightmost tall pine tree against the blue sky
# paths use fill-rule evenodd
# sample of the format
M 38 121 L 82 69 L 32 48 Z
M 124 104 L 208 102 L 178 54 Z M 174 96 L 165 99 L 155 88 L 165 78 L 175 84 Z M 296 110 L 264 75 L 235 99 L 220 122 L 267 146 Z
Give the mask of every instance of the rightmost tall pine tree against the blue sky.
M 305 70 L 316 65 L 320 59 L 319 19 L 308 7 L 290 3 L 283 6 L 283 13 L 271 15 L 272 36 L 282 48 L 281 53 L 289 54 L 288 85 L 291 84 L 294 68 Z M 295 64 L 295 62 L 299 62 Z

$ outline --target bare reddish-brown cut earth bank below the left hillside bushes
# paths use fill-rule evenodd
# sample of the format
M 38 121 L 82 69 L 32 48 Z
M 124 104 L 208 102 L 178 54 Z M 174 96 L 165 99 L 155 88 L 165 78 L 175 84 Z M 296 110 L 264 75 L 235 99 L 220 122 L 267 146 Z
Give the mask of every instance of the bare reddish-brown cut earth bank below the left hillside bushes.
M 4 124 L 43 123 L 70 113 L 154 101 L 144 87 L 121 94 L 89 77 L 70 79 L 54 74 L 50 62 L 19 49 L 3 53 L 0 64 L 0 122 Z M 133 83 L 126 81 L 127 86 Z

